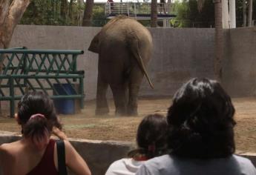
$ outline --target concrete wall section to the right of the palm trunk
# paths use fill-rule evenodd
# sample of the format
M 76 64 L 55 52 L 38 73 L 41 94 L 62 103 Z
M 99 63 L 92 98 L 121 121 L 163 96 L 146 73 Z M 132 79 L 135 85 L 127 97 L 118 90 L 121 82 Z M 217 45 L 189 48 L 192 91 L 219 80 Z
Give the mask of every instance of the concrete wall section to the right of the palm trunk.
M 226 30 L 223 85 L 231 96 L 256 95 L 256 27 Z

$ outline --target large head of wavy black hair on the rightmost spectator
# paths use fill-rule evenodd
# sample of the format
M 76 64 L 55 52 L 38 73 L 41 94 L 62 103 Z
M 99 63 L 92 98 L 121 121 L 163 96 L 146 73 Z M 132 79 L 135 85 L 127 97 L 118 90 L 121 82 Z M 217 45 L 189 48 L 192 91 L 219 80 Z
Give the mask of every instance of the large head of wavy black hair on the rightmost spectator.
M 222 158 L 234 153 L 234 107 L 220 84 L 191 79 L 168 110 L 168 147 L 177 156 Z

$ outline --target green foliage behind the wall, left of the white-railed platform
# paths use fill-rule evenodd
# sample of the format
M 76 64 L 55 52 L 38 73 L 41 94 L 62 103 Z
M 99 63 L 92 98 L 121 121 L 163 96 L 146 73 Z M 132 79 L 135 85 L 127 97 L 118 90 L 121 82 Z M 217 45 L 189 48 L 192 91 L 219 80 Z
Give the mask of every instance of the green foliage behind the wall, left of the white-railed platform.
M 32 0 L 20 24 L 79 25 L 79 13 L 83 12 L 85 5 L 79 5 L 77 1 L 73 0 L 72 11 L 70 12 L 72 14 L 69 14 L 67 9 L 66 19 L 60 15 L 60 8 L 61 0 Z M 68 8 L 70 8 L 70 4 Z M 93 26 L 100 27 L 105 23 L 105 7 L 95 4 L 93 6 Z

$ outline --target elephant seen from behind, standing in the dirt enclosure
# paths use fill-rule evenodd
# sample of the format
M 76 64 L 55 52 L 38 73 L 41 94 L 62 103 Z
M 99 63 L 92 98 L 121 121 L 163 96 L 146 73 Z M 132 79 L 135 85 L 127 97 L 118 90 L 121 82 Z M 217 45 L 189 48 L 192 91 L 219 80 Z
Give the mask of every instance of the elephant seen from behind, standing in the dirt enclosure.
M 109 113 L 106 92 L 111 87 L 116 115 L 137 116 L 137 96 L 151 59 L 153 42 L 148 29 L 135 19 L 116 16 L 94 36 L 88 50 L 99 54 L 96 115 Z

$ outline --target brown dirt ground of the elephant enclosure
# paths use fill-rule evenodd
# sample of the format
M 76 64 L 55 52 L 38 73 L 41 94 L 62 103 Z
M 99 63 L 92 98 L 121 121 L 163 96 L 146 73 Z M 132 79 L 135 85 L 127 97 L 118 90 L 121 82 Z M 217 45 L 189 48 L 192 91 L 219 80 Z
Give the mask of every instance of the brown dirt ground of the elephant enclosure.
M 256 152 L 256 98 L 232 99 L 236 109 L 235 140 L 237 150 Z M 95 116 L 95 102 L 85 103 L 82 113 L 59 115 L 68 137 L 79 139 L 134 141 L 137 126 L 148 113 L 165 115 L 171 104 L 169 98 L 140 99 L 139 116 L 114 116 L 114 105 L 110 102 L 108 116 Z M 14 119 L 2 115 L 0 130 L 20 133 Z

